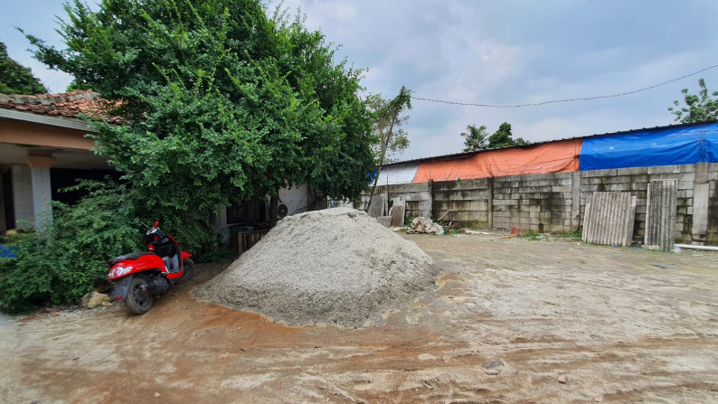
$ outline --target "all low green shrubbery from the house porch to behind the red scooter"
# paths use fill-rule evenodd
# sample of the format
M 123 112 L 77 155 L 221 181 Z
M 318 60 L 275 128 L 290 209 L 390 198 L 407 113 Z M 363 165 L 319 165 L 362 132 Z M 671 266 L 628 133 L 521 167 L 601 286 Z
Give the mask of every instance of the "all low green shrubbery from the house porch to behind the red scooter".
M 43 232 L 29 230 L 5 240 L 16 256 L 0 261 L 0 310 L 20 313 L 38 305 L 72 302 L 106 279 L 107 260 L 144 250 L 141 222 L 160 221 L 181 248 L 213 260 L 222 249 L 209 218 L 188 211 L 147 206 L 125 185 L 82 181 L 68 188 L 86 189 L 76 205 L 55 202 L 52 224 Z

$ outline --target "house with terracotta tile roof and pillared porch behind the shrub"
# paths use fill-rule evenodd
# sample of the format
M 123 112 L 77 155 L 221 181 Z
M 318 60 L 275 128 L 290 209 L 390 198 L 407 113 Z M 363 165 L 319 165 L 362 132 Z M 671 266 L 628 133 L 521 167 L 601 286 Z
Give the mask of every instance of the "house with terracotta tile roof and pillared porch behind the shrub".
M 104 157 L 92 153 L 96 130 L 80 114 L 97 114 L 110 123 L 106 105 L 87 90 L 61 94 L 0 94 L 0 234 L 34 218 L 42 229 L 52 220 L 50 202 L 74 202 L 60 193 L 78 178 L 118 176 Z

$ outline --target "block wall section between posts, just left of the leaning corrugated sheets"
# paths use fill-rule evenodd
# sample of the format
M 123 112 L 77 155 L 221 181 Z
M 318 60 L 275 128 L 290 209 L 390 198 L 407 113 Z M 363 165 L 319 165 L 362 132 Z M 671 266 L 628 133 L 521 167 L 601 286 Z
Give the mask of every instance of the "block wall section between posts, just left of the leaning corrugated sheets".
M 572 230 L 572 173 L 494 178 L 493 228 Z

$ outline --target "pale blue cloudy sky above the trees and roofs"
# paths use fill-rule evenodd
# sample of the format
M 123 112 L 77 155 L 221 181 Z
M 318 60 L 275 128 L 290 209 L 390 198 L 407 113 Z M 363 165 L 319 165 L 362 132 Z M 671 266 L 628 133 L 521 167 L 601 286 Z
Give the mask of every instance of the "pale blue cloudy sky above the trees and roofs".
M 52 92 L 70 78 L 45 70 L 13 26 L 60 44 L 59 0 L 0 0 L 0 41 Z M 276 4 L 272 2 L 271 5 Z M 270 8 L 271 8 L 270 5 Z M 718 65 L 718 2 L 710 0 L 286 0 L 368 69 L 364 87 L 389 98 L 509 106 L 644 89 Z M 544 141 L 675 123 L 667 111 L 698 79 L 718 90 L 718 68 L 622 97 L 526 108 L 481 108 L 413 99 L 402 160 L 458 153 L 467 125 Z

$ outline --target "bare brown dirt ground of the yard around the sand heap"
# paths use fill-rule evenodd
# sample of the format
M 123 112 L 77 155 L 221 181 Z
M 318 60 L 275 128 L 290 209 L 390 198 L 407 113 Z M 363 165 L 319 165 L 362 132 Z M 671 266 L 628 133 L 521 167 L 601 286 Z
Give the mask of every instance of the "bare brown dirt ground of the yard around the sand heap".
M 1 317 L 0 400 L 718 402 L 718 253 L 404 237 L 445 272 L 384 324 L 288 327 L 194 299 L 216 264 L 146 315 Z

